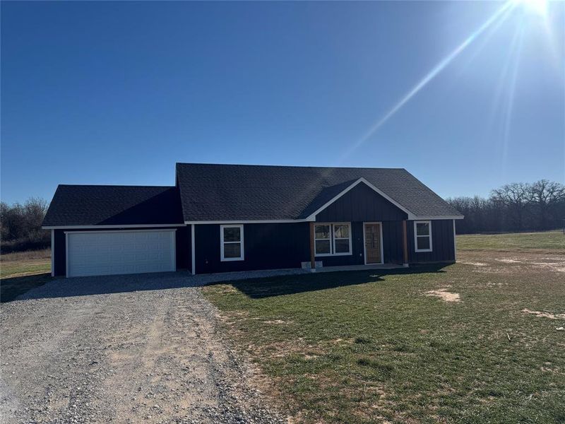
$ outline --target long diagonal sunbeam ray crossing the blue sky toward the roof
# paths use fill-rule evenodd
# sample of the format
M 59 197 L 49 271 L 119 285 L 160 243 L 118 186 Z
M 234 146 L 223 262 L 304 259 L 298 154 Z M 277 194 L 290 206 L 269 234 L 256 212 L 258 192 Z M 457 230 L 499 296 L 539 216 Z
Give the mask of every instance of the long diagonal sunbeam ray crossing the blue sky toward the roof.
M 375 132 L 379 128 L 381 128 L 381 126 L 383 126 L 385 122 L 388 121 L 388 119 L 390 119 L 394 114 L 396 114 L 396 112 L 398 112 L 398 110 L 400 110 L 411 98 L 413 98 L 418 92 L 420 92 L 422 88 L 427 86 L 429 81 L 432 81 L 434 77 L 436 77 L 441 71 L 443 71 L 446 68 L 446 66 L 448 66 L 448 64 L 450 64 L 451 61 L 453 61 L 453 59 L 458 57 L 458 55 L 461 52 L 463 52 L 463 50 L 465 50 L 473 41 L 475 41 L 477 37 L 479 37 L 482 33 L 484 33 L 484 31 L 487 30 L 487 28 L 489 28 L 493 23 L 495 23 L 503 16 L 507 16 L 506 11 L 508 11 L 510 8 L 513 8 L 515 6 L 516 4 L 512 4 L 509 1 L 504 3 L 490 18 L 488 18 L 479 28 L 477 28 L 477 30 L 475 30 L 460 45 L 458 45 L 458 47 L 456 47 L 456 49 L 454 49 L 453 52 L 448 54 L 448 56 L 442 59 L 439 62 L 439 64 L 434 66 L 432 71 L 429 71 L 429 73 L 427 73 L 427 75 L 424 76 L 424 78 L 422 78 L 414 87 L 412 87 L 412 89 L 408 91 L 408 93 L 406 93 L 403 96 L 403 98 L 401 98 L 396 103 L 396 105 L 394 105 L 391 108 L 391 110 L 388 110 L 388 112 L 386 112 L 386 114 L 384 114 L 383 117 L 381 117 L 381 119 L 379 119 L 373 126 L 371 126 L 369 131 L 367 131 L 359 140 L 353 143 L 350 146 L 350 148 L 348 148 L 347 151 L 345 151 L 345 153 L 342 155 L 341 162 L 343 162 L 343 160 L 349 157 L 354 151 L 357 150 L 357 148 L 362 146 L 363 143 L 365 143 L 371 136 L 373 136 Z

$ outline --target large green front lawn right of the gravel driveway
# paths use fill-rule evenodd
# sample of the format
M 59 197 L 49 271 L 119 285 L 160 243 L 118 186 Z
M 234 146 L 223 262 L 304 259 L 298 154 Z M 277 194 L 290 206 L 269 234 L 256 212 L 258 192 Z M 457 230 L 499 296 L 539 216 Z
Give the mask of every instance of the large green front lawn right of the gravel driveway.
M 522 312 L 565 313 L 565 274 L 535 265 L 540 254 L 530 265 L 460 257 L 487 266 L 286 276 L 203 293 L 299 422 L 565 422 L 556 330 L 565 322 Z M 461 301 L 425 295 L 439 288 Z

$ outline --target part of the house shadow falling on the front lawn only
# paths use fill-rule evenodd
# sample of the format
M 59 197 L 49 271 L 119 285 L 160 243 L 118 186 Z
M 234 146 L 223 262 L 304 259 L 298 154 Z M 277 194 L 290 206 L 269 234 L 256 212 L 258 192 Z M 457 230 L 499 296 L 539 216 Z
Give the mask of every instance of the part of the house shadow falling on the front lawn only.
M 368 269 L 363 271 L 335 271 L 325 273 L 307 273 L 288 276 L 254 278 L 241 281 L 218 282 L 230 284 L 252 299 L 273 296 L 294 295 L 317 290 L 359 285 L 383 281 L 386 276 L 409 275 L 417 273 L 444 273 L 449 264 L 414 266 L 403 269 Z

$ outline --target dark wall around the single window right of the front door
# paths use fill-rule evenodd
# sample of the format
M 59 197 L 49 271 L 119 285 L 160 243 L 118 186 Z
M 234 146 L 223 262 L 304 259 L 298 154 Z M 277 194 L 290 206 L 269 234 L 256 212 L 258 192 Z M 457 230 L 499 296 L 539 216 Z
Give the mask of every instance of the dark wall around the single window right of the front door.
M 455 261 L 455 246 L 453 245 L 453 220 L 432 220 L 432 252 L 416 252 L 414 245 L 414 221 L 408 221 L 407 232 L 408 262 L 410 264 Z

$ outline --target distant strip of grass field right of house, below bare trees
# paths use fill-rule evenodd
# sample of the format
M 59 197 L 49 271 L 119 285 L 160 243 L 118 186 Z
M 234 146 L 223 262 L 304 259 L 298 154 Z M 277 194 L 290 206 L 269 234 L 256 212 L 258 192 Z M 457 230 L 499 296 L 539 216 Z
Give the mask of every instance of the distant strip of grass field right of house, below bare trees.
M 563 231 L 516 232 L 510 234 L 465 234 L 457 236 L 457 249 L 521 252 L 540 250 L 565 251 Z

